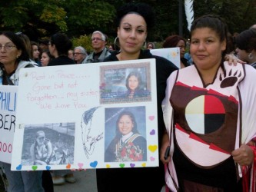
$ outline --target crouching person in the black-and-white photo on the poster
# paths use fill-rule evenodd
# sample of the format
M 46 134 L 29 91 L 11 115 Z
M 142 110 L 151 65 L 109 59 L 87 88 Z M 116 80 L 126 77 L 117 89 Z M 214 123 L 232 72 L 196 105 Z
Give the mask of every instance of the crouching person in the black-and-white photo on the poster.
M 37 131 L 35 143 L 30 147 L 33 164 L 47 165 L 52 158 L 52 143 L 45 137 L 44 131 Z

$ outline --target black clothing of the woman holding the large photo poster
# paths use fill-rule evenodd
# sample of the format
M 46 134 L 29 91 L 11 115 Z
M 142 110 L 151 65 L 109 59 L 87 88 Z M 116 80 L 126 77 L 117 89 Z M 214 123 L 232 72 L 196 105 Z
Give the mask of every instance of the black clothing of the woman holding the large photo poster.
M 116 51 L 112 52 L 104 61 L 118 61 L 117 54 Z M 165 130 L 161 101 L 165 98 L 167 78 L 172 71 L 178 68 L 165 58 L 151 55 L 149 50 L 141 50 L 139 59 L 146 58 L 155 58 L 156 60 L 158 150 L 160 151 L 161 139 Z M 161 161 L 159 167 L 97 169 L 96 173 L 98 192 L 161 191 L 161 187 L 165 185 L 165 169 Z

